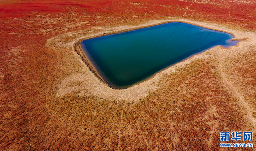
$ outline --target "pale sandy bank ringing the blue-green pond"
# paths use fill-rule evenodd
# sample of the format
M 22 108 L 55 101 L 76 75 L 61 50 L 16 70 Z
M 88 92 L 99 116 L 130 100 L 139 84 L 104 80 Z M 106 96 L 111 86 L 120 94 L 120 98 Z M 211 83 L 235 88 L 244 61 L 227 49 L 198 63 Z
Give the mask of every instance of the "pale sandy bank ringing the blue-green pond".
M 177 63 L 165 70 L 162 70 L 151 78 L 135 84 L 127 89 L 113 89 L 109 87 L 100 77 L 97 70 L 91 65 L 90 61 L 84 54 L 80 43 L 81 41 L 89 38 L 99 37 L 103 35 L 109 35 L 113 33 L 125 32 L 139 28 L 145 28 L 150 26 L 155 26 L 157 24 L 167 23 L 167 22 L 184 22 L 193 24 L 196 26 L 223 31 L 233 34 L 236 38 L 234 40 L 241 40 L 238 45 L 229 48 L 223 48 L 221 46 L 214 47 L 203 53 L 197 54 L 188 58 L 187 60 Z M 67 40 L 68 39 L 68 40 Z M 60 42 L 64 41 L 64 42 Z M 240 53 L 244 47 L 248 47 L 256 43 L 256 33 L 253 32 L 243 32 L 234 29 L 229 29 L 223 26 L 219 26 L 213 23 L 198 22 L 185 19 L 171 19 L 171 20 L 154 20 L 138 26 L 120 26 L 120 27 L 94 27 L 94 29 L 87 29 L 83 31 L 77 31 L 72 33 L 61 34 L 51 39 L 48 39 L 47 46 L 51 47 L 52 50 L 61 51 L 61 49 L 70 50 L 71 59 L 74 62 L 79 62 L 80 72 L 74 72 L 65 79 L 62 79 L 60 84 L 58 84 L 56 95 L 61 97 L 72 91 L 79 91 L 79 95 L 90 93 L 96 95 L 100 98 L 124 100 L 127 102 L 138 101 L 144 96 L 148 95 L 151 91 L 154 91 L 161 84 L 161 77 L 168 75 L 180 67 L 189 64 L 191 61 L 198 60 L 200 58 L 204 59 L 221 59 L 227 57 L 234 53 Z

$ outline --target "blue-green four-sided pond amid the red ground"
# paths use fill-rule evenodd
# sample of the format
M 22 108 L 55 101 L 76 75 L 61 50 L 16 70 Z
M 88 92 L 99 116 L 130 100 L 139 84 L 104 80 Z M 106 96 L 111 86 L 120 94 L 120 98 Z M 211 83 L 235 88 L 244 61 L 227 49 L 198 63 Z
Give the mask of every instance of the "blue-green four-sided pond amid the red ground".
M 232 34 L 171 22 L 87 39 L 82 49 L 103 80 L 127 88 L 215 46 L 237 45 Z

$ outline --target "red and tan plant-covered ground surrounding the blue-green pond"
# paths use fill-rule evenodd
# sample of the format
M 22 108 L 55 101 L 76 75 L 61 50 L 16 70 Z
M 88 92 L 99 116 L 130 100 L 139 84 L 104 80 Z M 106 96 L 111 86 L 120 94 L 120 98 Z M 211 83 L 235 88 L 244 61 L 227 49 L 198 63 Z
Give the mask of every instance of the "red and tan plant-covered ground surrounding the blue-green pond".
M 0 150 L 255 150 L 219 147 L 222 131 L 252 131 L 256 145 L 255 8 L 254 0 L 0 1 Z M 240 42 L 123 90 L 75 51 L 82 38 L 166 21 Z

